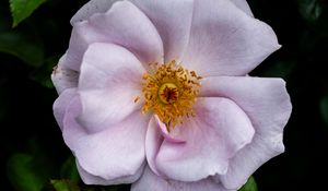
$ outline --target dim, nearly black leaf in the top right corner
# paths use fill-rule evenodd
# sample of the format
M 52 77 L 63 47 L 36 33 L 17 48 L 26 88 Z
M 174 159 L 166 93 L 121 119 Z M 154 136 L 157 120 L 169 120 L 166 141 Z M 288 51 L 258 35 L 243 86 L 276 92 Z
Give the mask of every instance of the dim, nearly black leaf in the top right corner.
M 321 15 L 323 7 L 319 0 L 298 0 L 298 10 L 304 20 L 313 23 Z

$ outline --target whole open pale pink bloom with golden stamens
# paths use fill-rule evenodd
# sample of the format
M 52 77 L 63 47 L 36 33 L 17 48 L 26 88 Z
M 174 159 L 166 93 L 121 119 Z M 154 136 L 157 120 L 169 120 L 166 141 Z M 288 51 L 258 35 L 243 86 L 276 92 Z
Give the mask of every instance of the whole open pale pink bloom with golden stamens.
M 236 190 L 284 151 L 280 48 L 245 0 L 91 0 L 54 70 L 54 114 L 85 183 Z

